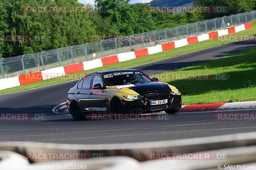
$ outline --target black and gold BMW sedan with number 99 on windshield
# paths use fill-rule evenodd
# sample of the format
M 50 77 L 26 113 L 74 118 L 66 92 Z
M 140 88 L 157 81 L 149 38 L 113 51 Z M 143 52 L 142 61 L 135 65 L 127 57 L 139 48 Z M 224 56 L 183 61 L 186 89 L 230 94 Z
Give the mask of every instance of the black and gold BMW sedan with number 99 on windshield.
M 75 120 L 90 113 L 177 113 L 179 90 L 135 69 L 100 71 L 84 76 L 68 92 L 67 106 Z

